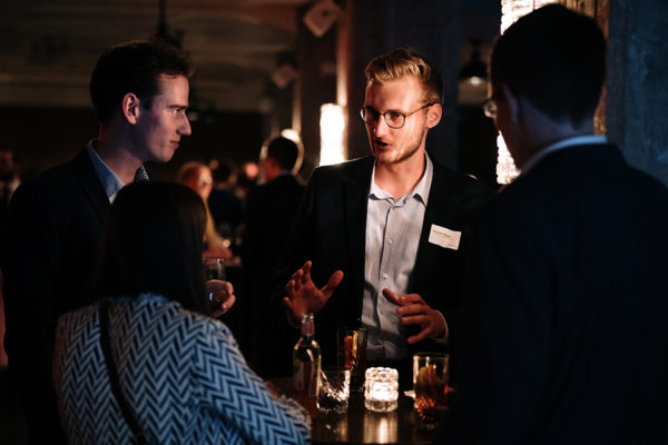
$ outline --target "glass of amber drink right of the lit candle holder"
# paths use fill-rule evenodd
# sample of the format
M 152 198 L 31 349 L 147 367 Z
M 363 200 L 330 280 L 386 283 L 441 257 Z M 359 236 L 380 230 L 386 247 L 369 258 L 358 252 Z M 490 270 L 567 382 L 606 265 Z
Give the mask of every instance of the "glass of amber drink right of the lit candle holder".
M 413 356 L 413 407 L 420 425 L 433 429 L 448 408 L 449 356 L 418 353 Z

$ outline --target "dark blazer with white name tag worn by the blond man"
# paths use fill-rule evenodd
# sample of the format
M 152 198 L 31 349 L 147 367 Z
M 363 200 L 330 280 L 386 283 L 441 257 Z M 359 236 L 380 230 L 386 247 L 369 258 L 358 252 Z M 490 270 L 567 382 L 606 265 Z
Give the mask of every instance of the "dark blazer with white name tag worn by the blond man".
M 366 157 L 313 172 L 295 219 L 286 260 L 275 281 L 273 301 L 277 305 L 285 296 L 289 276 L 307 259 L 313 261 L 312 277 L 318 287 L 327 283 L 334 270 L 344 271 L 343 281 L 315 318 L 315 335 L 325 363 L 335 360 L 336 328 L 361 323 L 366 205 L 373 162 L 373 157 Z M 430 306 L 441 310 L 452 332 L 456 325 L 469 226 L 487 198 L 488 188 L 436 162 L 433 166 L 409 293 L 420 294 Z M 429 243 L 432 224 L 461 231 L 459 249 Z M 422 342 L 416 347 L 428 348 L 429 343 Z

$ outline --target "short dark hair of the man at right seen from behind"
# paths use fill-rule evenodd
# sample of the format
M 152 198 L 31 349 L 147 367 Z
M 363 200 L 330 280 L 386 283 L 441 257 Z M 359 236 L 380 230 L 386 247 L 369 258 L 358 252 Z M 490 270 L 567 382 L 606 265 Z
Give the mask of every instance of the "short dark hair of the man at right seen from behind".
M 606 76 L 606 39 L 596 21 L 560 4 L 522 17 L 493 47 L 495 88 L 530 101 L 556 121 L 593 116 Z

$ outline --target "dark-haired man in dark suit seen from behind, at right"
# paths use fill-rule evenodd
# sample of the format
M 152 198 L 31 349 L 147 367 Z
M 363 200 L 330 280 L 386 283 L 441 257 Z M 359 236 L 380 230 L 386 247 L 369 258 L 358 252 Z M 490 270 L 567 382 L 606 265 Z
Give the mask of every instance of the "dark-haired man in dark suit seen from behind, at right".
M 593 136 L 605 62 L 561 6 L 494 44 L 485 112 L 521 175 L 481 216 L 442 443 L 667 443 L 668 189 Z

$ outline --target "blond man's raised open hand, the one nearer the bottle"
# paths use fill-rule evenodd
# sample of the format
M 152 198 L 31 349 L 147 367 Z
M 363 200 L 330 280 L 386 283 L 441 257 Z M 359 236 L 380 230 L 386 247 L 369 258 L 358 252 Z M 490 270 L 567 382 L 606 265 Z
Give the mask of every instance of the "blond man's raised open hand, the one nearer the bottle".
M 283 298 L 283 304 L 296 326 L 299 325 L 302 315 L 321 312 L 343 279 L 343 270 L 336 270 L 327 284 L 318 289 L 311 279 L 311 261 L 304 263 L 304 266 L 297 269 L 285 285 L 287 297 Z

